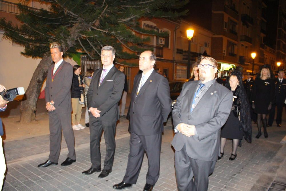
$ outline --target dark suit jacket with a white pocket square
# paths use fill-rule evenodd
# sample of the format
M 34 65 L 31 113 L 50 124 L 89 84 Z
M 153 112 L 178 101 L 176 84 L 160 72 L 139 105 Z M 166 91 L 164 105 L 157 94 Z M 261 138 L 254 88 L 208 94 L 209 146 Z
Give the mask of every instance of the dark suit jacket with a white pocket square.
M 124 88 L 125 75 L 112 66 L 98 87 L 102 70 L 103 68 L 96 70 L 92 76 L 86 95 L 88 107 L 94 107 L 100 111 L 99 120 L 117 121 L 119 119 L 118 102 Z

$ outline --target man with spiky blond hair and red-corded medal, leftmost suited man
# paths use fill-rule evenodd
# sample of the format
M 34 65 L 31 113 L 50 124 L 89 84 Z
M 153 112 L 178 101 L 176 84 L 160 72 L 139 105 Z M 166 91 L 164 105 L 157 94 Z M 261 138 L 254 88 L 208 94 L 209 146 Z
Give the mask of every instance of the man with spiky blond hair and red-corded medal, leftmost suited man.
M 51 43 L 50 50 L 54 64 L 48 69 L 45 87 L 46 109 L 49 111 L 50 155 L 49 159 L 39 164 L 38 167 L 57 165 L 61 151 L 61 130 L 63 130 L 63 136 L 69 151 L 67 159 L 61 166 L 76 162 L 71 118 L 72 65 L 63 60 L 63 48 L 59 43 Z

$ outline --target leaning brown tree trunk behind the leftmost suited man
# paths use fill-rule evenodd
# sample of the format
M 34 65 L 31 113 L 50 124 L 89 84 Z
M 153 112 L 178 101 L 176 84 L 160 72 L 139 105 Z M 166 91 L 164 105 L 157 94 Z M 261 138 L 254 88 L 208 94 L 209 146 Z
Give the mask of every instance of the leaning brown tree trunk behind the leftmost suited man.
M 25 99 L 21 101 L 20 123 L 27 123 L 35 120 L 37 101 L 43 86 L 43 82 L 45 78 L 47 78 L 47 72 L 51 62 L 51 55 L 46 55 L 37 66 L 25 92 Z

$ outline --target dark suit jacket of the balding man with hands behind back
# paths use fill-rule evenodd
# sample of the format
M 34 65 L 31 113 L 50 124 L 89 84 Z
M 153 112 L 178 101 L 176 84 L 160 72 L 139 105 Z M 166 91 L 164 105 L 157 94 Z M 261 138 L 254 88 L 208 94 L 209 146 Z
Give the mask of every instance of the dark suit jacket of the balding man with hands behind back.
M 142 74 L 134 78 L 131 102 L 127 113 L 130 132 L 137 135 L 155 135 L 164 130 L 172 110 L 168 80 L 155 70 L 151 73 L 136 97 Z

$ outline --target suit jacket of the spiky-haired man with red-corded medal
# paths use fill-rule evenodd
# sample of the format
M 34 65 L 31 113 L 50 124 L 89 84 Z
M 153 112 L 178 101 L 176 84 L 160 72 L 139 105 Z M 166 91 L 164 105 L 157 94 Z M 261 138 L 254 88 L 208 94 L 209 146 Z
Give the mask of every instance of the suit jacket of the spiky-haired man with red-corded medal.
M 63 61 L 57 70 L 52 82 L 52 72 L 55 64 L 52 64 L 48 69 L 46 87 L 45 87 L 45 100 L 46 103 L 53 100 L 55 102 L 55 112 L 64 114 L 72 112 L 71 101 L 71 86 L 72 86 L 72 65 Z

